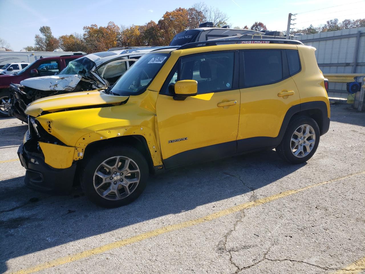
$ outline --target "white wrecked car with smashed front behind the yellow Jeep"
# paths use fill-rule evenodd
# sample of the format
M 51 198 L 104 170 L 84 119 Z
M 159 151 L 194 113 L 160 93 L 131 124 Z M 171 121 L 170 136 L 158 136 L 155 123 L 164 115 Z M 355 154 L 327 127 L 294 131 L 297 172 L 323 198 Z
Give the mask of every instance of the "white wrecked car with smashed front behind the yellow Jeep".
M 11 108 L 9 114 L 27 122 L 24 113 L 34 100 L 69 92 L 106 89 L 143 54 L 162 47 L 125 47 L 120 50 L 97 52 L 70 61 L 58 75 L 25 79 L 10 84 Z

